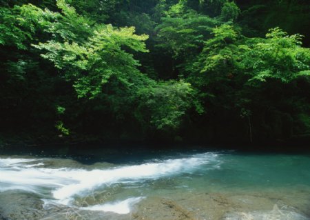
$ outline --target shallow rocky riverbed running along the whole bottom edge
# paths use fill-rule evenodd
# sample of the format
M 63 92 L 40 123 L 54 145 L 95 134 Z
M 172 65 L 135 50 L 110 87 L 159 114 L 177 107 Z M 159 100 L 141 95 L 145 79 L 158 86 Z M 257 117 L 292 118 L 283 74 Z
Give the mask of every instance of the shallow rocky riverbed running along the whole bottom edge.
M 193 193 L 171 197 L 148 197 L 137 203 L 132 212 L 90 211 L 70 206 L 44 204 L 36 195 L 23 191 L 0 193 L 1 220 L 307 220 L 310 219 L 310 193 L 299 190 L 300 198 L 294 201 L 279 192 Z

